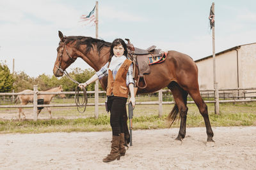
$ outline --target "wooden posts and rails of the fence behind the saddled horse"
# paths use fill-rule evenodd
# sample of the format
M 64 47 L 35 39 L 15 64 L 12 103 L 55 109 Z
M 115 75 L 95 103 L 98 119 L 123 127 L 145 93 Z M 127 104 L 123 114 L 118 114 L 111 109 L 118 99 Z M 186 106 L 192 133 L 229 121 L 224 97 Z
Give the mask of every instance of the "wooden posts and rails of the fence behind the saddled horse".
M 170 90 L 159 90 L 158 101 L 147 101 L 147 102 L 136 102 L 136 104 L 158 104 L 159 117 L 163 116 L 163 104 L 174 104 L 174 101 L 163 101 L 163 92 L 169 92 Z M 83 92 L 80 92 L 82 94 Z M 99 94 L 106 93 L 105 91 L 99 91 Z M 37 108 L 38 107 L 75 107 L 76 104 L 38 104 L 37 97 L 40 94 L 75 94 L 75 92 L 38 92 L 37 87 L 34 86 L 33 93 L 0 93 L 0 96 L 17 96 L 17 95 L 33 95 L 33 104 L 28 105 L 0 105 L 0 108 L 33 108 L 33 119 L 37 120 Z M 88 91 L 87 94 L 95 94 L 94 91 Z M 95 95 L 95 101 L 97 106 L 104 106 L 105 103 L 99 103 L 99 94 Z M 200 90 L 200 94 L 204 99 L 205 103 L 216 103 L 214 101 L 214 90 Z M 220 103 L 237 103 L 237 102 L 252 102 L 256 101 L 256 88 L 246 89 L 220 89 L 219 90 Z M 188 96 L 189 97 L 189 96 Z M 13 99 L 14 97 L 12 97 Z M 194 103 L 194 101 L 188 100 L 188 104 Z M 95 106 L 95 103 L 88 103 L 87 106 Z M 99 116 L 99 113 L 95 111 L 95 118 Z

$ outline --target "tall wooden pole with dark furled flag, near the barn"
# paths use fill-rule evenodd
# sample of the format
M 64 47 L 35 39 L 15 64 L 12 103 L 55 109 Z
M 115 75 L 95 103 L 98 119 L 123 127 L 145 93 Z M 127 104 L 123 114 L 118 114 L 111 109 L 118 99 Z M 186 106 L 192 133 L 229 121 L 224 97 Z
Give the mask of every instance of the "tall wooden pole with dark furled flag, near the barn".
M 214 13 L 214 3 L 212 3 L 212 12 Z M 215 114 L 220 115 L 219 89 L 216 81 L 216 60 L 215 60 L 215 24 L 212 26 L 212 64 L 213 64 L 213 83 L 215 90 Z

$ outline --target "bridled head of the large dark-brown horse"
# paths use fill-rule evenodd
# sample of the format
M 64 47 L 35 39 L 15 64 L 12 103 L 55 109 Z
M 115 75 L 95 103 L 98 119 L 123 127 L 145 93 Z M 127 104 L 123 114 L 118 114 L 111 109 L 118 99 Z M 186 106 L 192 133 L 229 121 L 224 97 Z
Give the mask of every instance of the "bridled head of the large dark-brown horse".
M 72 46 L 72 42 L 67 43 L 66 37 L 59 31 L 60 43 L 57 48 L 57 58 L 53 67 L 53 74 L 56 77 L 63 76 L 63 71 L 67 69 L 76 59 L 76 48 Z

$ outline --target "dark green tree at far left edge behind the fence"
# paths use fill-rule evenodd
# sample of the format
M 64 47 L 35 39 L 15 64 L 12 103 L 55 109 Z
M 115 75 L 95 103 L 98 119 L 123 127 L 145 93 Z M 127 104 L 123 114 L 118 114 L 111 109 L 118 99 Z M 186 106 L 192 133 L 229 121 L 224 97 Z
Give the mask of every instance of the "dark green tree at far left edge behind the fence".
M 13 75 L 8 66 L 0 62 L 0 92 L 12 92 L 13 81 Z

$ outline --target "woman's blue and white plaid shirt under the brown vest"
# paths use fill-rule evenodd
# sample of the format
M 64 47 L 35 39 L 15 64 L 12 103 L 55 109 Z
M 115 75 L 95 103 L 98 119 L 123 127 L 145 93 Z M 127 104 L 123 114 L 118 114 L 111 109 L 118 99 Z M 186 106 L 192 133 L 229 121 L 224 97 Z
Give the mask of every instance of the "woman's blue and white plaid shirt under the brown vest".
M 115 80 L 116 78 L 116 73 L 118 71 L 118 69 L 122 66 L 123 63 L 118 64 L 115 69 L 113 69 L 113 79 Z M 128 87 L 129 83 L 133 83 L 134 84 L 134 80 L 132 77 L 132 64 L 130 65 L 127 75 L 126 75 L 126 85 Z M 99 71 L 96 72 L 99 80 L 102 79 L 103 76 L 107 76 L 108 75 L 108 62 L 101 67 L 101 69 Z

